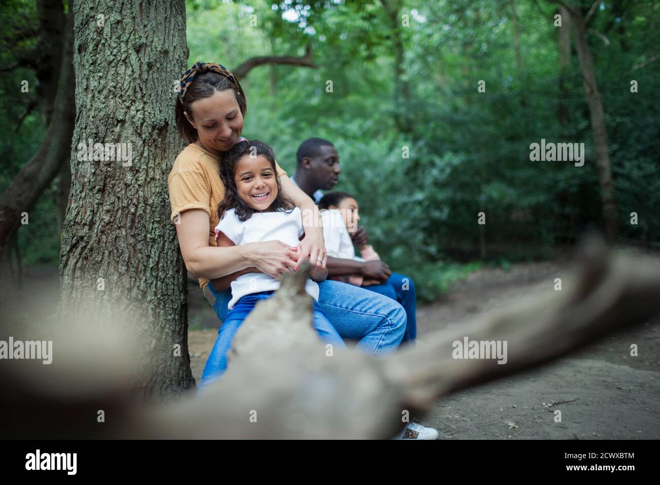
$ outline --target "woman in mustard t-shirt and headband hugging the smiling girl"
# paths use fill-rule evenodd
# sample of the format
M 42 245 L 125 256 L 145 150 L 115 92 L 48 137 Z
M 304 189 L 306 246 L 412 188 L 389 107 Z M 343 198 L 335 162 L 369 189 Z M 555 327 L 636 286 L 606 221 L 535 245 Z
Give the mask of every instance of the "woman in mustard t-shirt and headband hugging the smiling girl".
M 172 221 L 187 270 L 213 301 L 213 309 L 224 321 L 232 299 L 230 283 L 245 273 L 261 271 L 281 278 L 303 261 L 325 267 L 327 254 L 323 226 L 306 217 L 305 238 L 297 248 L 279 241 L 217 247 L 218 203 L 224 199 L 220 163 L 224 153 L 238 143 L 243 131 L 247 101 L 238 81 L 226 68 L 195 63 L 183 73 L 176 102 L 177 127 L 187 145 L 174 162 L 168 178 Z M 277 164 L 276 164 L 277 165 Z M 314 202 L 298 189 L 277 165 L 282 190 L 302 214 L 317 213 Z M 319 306 L 343 339 L 357 339 L 370 354 L 391 352 L 399 346 L 406 315 L 397 302 L 332 280 L 319 283 Z M 218 335 L 207 360 L 200 387 L 217 376 L 221 356 L 230 339 Z M 426 428 L 429 429 L 429 428 Z

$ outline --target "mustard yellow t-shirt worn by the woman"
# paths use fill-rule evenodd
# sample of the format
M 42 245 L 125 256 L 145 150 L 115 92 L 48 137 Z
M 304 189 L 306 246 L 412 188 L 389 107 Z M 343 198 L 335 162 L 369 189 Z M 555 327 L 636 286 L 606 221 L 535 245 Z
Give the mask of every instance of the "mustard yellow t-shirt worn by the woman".
M 275 162 L 277 176 L 286 175 Z M 216 246 L 215 226 L 218 204 L 224 199 L 224 184 L 220 179 L 220 158 L 191 143 L 176 157 L 168 177 L 170 187 L 170 220 L 188 209 L 202 209 L 209 214 L 209 245 Z M 205 288 L 209 278 L 199 278 L 199 286 Z

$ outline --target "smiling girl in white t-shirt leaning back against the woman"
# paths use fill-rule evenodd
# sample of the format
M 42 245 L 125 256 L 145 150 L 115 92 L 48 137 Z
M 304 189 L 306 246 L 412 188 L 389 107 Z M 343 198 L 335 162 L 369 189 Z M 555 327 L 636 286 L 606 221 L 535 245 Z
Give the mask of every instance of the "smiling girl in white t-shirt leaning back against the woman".
M 279 240 L 295 250 L 300 238 L 304 237 L 302 216 L 300 209 L 282 193 L 273 150 L 258 140 L 242 139 L 226 154 L 220 170 L 225 197 L 218 205 L 220 222 L 215 228 L 218 246 Z M 319 286 L 315 281 L 325 280 L 327 269 L 312 268 L 305 291 L 314 300 L 314 328 L 321 339 L 346 348 L 317 303 Z M 289 268 L 286 271 L 293 270 Z M 259 300 L 273 296 L 280 282 L 265 273 L 246 273 L 232 281 L 231 286 L 229 311 L 216 340 L 216 347 L 222 347 L 222 360 L 219 366 L 213 366 L 213 375 L 207 375 L 211 371 L 205 368 L 203 381 L 224 373 L 226 353 L 231 348 L 238 327 Z M 214 352 L 217 351 L 214 349 Z

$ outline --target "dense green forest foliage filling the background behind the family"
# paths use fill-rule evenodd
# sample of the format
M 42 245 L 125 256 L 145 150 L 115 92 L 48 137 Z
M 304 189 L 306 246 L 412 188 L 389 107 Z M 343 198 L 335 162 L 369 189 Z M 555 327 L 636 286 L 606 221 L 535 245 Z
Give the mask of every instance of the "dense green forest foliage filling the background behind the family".
M 591 3 L 581 1 L 584 14 Z M 29 2 L 8 5 L 3 39 L 36 18 Z M 304 55 L 310 46 L 315 69 L 265 65 L 242 80 L 244 136 L 272 145 L 289 175 L 304 139 L 333 141 L 343 169 L 336 189 L 354 193 L 381 257 L 412 276 L 422 298 L 432 298 L 478 266 L 451 261 L 479 259 L 480 238 L 486 257 L 506 269 L 602 226 L 578 57 L 573 49 L 562 74 L 557 12 L 544 0 L 188 0 L 189 65 L 235 69 L 253 56 Z M 659 25 L 660 4 L 651 1 L 603 1 L 589 20 L 609 40 L 606 46 L 595 34 L 588 38 L 622 236 L 645 241 L 660 240 L 660 60 L 634 67 L 657 55 Z M 36 113 L 11 133 L 27 100 L 16 103 L 16 82 L 34 79 L 26 76 L 30 71 L 17 69 L 0 77 L 9 113 L 0 121 L 0 150 L 11 153 L 0 189 L 44 134 Z M 630 92 L 632 80 L 639 92 Z M 585 143 L 585 165 L 531 162 L 529 145 L 542 138 Z M 21 230 L 27 261 L 56 254 L 49 252 L 57 246 L 49 239 L 49 200 L 45 193 L 38 224 L 31 216 L 30 228 Z M 486 226 L 477 224 L 479 212 Z M 630 224 L 631 212 L 639 224 Z

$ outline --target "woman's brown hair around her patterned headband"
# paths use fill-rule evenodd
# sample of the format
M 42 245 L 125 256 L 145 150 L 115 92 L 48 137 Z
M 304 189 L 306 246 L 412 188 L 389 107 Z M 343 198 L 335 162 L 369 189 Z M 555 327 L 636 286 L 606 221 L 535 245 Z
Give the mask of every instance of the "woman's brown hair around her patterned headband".
M 236 81 L 236 84 L 240 87 L 238 81 Z M 245 117 L 248 112 L 248 102 L 243 96 L 238 94 L 236 86 L 229 81 L 229 79 L 217 73 L 208 72 L 197 76 L 195 81 L 188 86 L 185 96 L 183 96 L 183 102 L 181 98 L 177 96 L 175 108 L 176 127 L 187 143 L 195 143 L 195 141 L 197 141 L 197 130 L 190 124 L 190 121 L 185 119 L 183 112 L 188 113 L 188 117 L 193 119 L 193 112 L 190 109 L 190 105 L 193 104 L 193 102 L 204 98 L 210 98 L 216 91 L 224 91 L 227 89 L 234 91 L 238 108 L 241 110 L 243 117 Z M 242 87 L 240 87 L 240 91 L 244 92 Z

